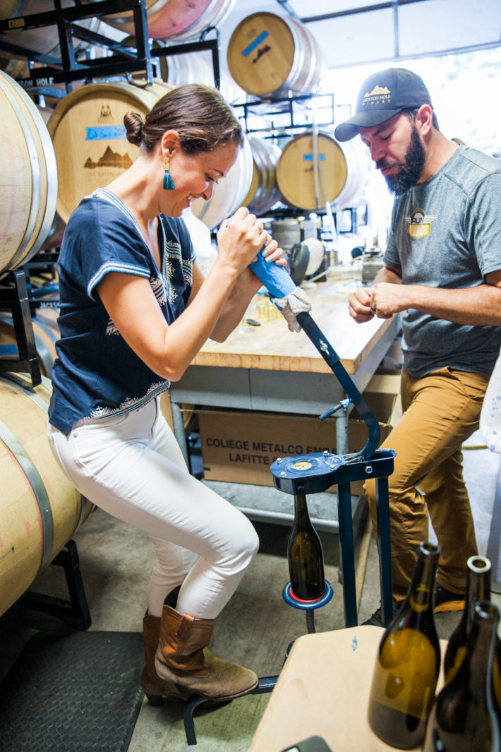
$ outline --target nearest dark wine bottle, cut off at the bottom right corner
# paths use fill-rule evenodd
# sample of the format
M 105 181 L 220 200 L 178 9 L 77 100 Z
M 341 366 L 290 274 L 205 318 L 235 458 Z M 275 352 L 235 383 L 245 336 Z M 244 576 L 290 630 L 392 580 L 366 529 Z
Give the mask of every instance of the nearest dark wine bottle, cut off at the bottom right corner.
M 496 606 L 475 603 L 466 652 L 436 697 L 423 752 L 500 752 L 499 706 L 492 684 L 498 623 Z

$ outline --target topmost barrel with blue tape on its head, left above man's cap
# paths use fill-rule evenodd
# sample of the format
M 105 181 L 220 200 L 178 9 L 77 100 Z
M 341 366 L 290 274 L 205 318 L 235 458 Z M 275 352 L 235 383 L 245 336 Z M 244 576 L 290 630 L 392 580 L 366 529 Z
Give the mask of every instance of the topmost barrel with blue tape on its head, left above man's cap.
M 249 94 L 312 94 L 324 73 L 315 37 L 299 21 L 273 13 L 244 18 L 228 44 L 231 76 Z

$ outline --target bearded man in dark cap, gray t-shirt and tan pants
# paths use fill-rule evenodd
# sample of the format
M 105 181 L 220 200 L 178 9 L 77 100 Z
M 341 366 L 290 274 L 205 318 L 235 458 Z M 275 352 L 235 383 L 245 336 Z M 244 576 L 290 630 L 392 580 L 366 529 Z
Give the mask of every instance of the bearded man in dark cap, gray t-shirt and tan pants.
M 476 429 L 501 344 L 501 161 L 449 141 L 423 80 L 388 68 L 361 86 L 360 135 L 395 194 L 385 266 L 349 300 L 355 321 L 401 314 L 403 417 L 383 446 L 389 478 L 394 607 L 406 595 L 428 514 L 441 547 L 435 611 L 463 608 L 478 553 L 461 445 Z M 376 490 L 366 484 L 376 526 Z M 367 623 L 381 624 L 378 609 Z

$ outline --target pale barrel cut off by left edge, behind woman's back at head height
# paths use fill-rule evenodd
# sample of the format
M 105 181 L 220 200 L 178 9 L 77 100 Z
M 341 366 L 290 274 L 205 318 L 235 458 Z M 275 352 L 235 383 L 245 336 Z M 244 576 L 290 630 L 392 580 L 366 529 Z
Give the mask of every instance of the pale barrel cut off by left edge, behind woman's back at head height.
M 24 89 L 0 71 L 0 276 L 40 250 L 56 213 L 56 156 Z

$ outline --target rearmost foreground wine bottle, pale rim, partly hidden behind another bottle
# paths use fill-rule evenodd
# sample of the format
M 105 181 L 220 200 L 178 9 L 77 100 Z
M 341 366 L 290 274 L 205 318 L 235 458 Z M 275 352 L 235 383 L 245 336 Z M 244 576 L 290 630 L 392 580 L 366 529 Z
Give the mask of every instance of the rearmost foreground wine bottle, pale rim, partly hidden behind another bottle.
M 490 600 L 490 561 L 485 556 L 470 556 L 466 562 L 466 602 L 460 621 L 449 638 L 444 656 L 445 682 L 451 681 L 466 653 L 466 642 L 473 623 L 475 603 Z M 493 690 L 501 708 L 501 640 L 496 635 L 493 659 Z

